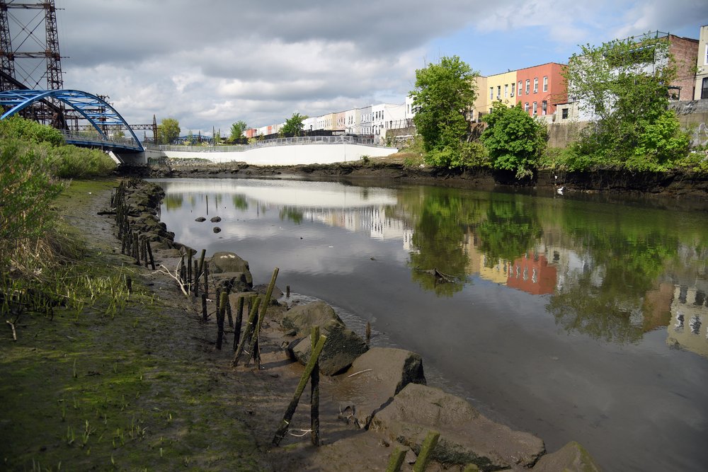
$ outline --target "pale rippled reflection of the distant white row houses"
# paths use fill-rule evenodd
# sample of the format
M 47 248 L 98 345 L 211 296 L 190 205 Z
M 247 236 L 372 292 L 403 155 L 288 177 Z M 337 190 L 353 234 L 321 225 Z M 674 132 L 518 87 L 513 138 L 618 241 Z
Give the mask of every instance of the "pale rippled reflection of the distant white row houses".
M 403 241 L 405 251 L 411 250 L 413 229 L 401 219 L 388 217 L 386 208 L 311 208 L 302 213 L 304 219 L 321 221 L 329 226 L 338 226 L 349 231 L 369 233 L 369 236 L 381 241 L 399 239 Z

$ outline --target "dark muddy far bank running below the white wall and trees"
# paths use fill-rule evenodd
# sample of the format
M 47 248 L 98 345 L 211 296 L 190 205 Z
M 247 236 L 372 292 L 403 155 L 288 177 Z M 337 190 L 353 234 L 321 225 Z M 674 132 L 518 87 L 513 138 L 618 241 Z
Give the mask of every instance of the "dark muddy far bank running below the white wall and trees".
M 171 159 L 161 166 L 124 166 L 120 175 L 142 178 L 315 178 L 352 180 L 394 180 L 459 188 L 490 189 L 497 187 L 535 189 L 565 195 L 574 193 L 604 194 L 619 197 L 673 198 L 681 204 L 708 203 L 708 175 L 694 173 L 637 172 L 566 172 L 544 170 L 533 178 L 515 180 L 513 173 L 475 169 L 456 171 L 409 166 L 396 156 L 362 159 L 345 163 L 299 166 L 253 166 L 246 163 L 209 163 L 201 160 Z

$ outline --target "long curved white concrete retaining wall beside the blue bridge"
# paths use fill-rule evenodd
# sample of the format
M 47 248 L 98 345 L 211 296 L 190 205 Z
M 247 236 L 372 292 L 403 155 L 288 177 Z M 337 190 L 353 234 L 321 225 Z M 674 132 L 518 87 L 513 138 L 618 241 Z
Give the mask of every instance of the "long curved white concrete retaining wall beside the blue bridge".
M 208 159 L 212 162 L 245 162 L 254 166 L 294 166 L 297 164 L 331 164 L 358 161 L 362 156 L 380 157 L 394 154 L 394 147 L 365 146 L 363 144 L 291 144 L 264 146 L 241 152 L 185 152 L 164 151 L 167 157 Z

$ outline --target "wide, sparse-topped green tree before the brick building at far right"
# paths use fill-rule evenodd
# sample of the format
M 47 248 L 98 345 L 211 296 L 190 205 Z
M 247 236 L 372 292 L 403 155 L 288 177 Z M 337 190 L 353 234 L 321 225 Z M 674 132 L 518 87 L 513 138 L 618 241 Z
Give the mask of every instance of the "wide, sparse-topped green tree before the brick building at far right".
M 569 96 L 593 116 L 593 126 L 583 129 L 576 145 L 581 157 L 571 168 L 662 171 L 687 154 L 687 135 L 667 110 L 676 67 L 666 38 L 583 46 L 564 74 Z

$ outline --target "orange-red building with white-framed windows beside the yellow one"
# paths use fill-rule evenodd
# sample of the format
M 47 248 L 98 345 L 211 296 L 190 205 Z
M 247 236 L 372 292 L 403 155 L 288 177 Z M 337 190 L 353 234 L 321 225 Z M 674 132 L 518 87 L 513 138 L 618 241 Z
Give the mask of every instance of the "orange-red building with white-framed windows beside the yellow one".
M 568 101 L 568 89 L 561 75 L 565 64 L 548 62 L 516 71 L 516 103 L 531 116 L 552 115 L 556 104 Z

